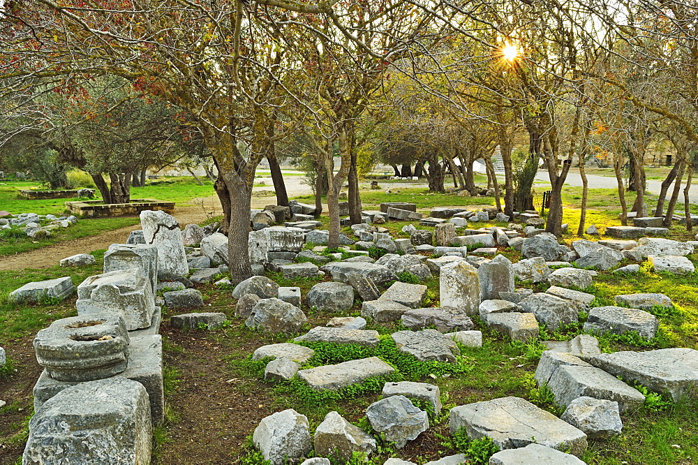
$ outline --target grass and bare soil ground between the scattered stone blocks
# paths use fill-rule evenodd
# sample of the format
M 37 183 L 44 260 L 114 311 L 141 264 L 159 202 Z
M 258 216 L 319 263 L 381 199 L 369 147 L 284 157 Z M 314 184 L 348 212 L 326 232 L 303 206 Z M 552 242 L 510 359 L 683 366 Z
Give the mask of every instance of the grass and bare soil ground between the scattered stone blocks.
M 386 194 L 384 191 L 362 192 L 364 207 L 375 207 L 380 202 L 415 202 L 419 208 L 440 205 L 493 205 L 492 198 L 469 198 L 456 195 L 429 194 L 422 188 L 399 189 L 400 193 Z M 365 195 L 364 195 L 365 194 Z M 302 198 L 311 202 L 312 199 Z M 565 188 L 565 221 L 570 221 L 570 230 L 576 230 L 574 221 L 579 221 L 579 200 L 581 188 Z M 478 204 L 476 202 L 485 202 Z M 458 202 L 458 203 L 456 203 Z M 614 190 L 595 189 L 589 196 L 587 224 L 597 226 L 619 224 L 618 206 L 614 202 Z M 576 220 L 575 220 L 576 219 Z M 327 226 L 327 215 L 320 217 Z M 87 221 L 84 221 L 87 223 Z M 393 237 L 408 237 L 401 228 L 408 221 L 389 221 L 385 226 Z M 413 222 L 416 223 L 416 222 Z M 80 222 L 76 225 L 79 226 Z M 482 226 L 505 226 L 502 223 L 477 223 Z M 426 228 L 419 226 L 419 228 Z M 350 228 L 343 228 L 350 233 Z M 674 237 L 692 238 L 683 226 L 675 226 Z M 570 234 L 563 237 L 566 242 L 577 239 Z M 6 297 L 11 290 L 30 281 L 52 279 L 70 275 L 77 286 L 82 280 L 102 270 L 104 251 L 96 251 L 96 265 L 84 268 L 52 267 L 46 270 L 24 270 L 22 272 L 0 272 L 0 341 L 7 344 L 8 356 L 14 359 L 15 366 L 22 368 L 16 374 L 9 374 L 0 382 L 0 398 L 3 383 L 13 388 L 28 385 L 36 378 L 22 373 L 29 367 L 36 371 L 36 362 L 31 359 L 31 338 L 37 330 L 57 318 L 75 315 L 75 295 L 60 303 L 45 302 L 33 305 L 10 305 Z M 500 248 L 500 253 L 517 261 L 520 253 L 512 249 Z M 689 256 L 698 263 L 698 254 Z M 621 263 L 625 265 L 626 263 Z M 271 279 L 281 286 L 299 286 L 302 289 L 302 309 L 309 318 L 304 327 L 309 330 L 316 325 L 325 325 L 334 316 L 351 314 L 358 316 L 361 302 L 356 301 L 348 312 L 331 313 L 309 309 L 306 294 L 314 283 L 329 281 L 331 276 L 318 276 L 313 279 L 289 281 L 280 274 L 268 273 Z M 408 279 L 404 276 L 403 279 Z M 438 278 L 423 282 L 428 290 L 429 304 L 436 306 L 439 300 Z M 532 285 L 517 282 L 519 287 L 544 291 L 547 284 Z M 165 339 L 165 373 L 167 374 L 168 420 L 156 429 L 154 463 L 230 463 L 261 464 L 260 457 L 253 452 L 246 438 L 252 434 L 261 418 L 295 408 L 309 418 L 311 431 L 319 425 L 329 411 L 338 411 L 347 420 L 364 429 L 369 429 L 365 420 L 365 409 L 378 400 L 380 383 L 362 383 L 336 394 L 318 394 L 296 381 L 270 383 L 264 381 L 265 361 L 252 362 L 250 355 L 255 348 L 264 344 L 292 342 L 292 336 L 265 334 L 244 327 L 244 318 L 235 315 L 236 301 L 229 288 L 216 288 L 213 285 L 198 286 L 205 299 L 205 311 L 221 311 L 231 321 L 219 330 L 204 331 L 174 330 L 169 325 L 172 314 L 184 313 L 163 309 L 165 321 L 162 334 Z M 658 336 L 651 341 L 639 341 L 632 337 L 601 336 L 600 347 L 605 352 L 618 350 L 648 350 L 653 348 L 687 347 L 698 349 L 698 273 L 685 276 L 658 274 L 644 265 L 634 276 L 599 272 L 594 283 L 586 292 L 595 295 L 594 306 L 613 304 L 614 297 L 625 293 L 664 293 L 671 297 L 675 307 L 669 311 L 654 310 L 660 320 Z M 581 323 L 586 316 L 581 314 Z M 532 401 L 537 406 L 559 415 L 549 392 L 539 389 L 533 374 L 539 360 L 542 346 L 539 341 L 528 344 L 511 341 L 473 318 L 475 329 L 483 333 L 482 348 L 461 346 L 461 357 L 456 364 L 424 364 L 396 353 L 389 334 L 401 330 L 400 323 L 378 324 L 369 321 L 366 329 L 377 330 L 382 337 L 379 348 L 339 345 L 313 345 L 316 357 L 304 367 L 318 364 L 336 363 L 359 356 L 377 355 L 398 367 L 395 379 L 421 381 L 439 386 L 444 409 L 440 415 L 432 415 L 430 429 L 406 448 L 396 450 L 378 437 L 380 452 L 371 457 L 371 463 L 383 464 L 389 457 L 400 457 L 417 464 L 423 464 L 446 455 L 463 451 L 463 443 L 454 441 L 447 425 L 449 408 L 484 401 L 496 397 L 517 396 Z M 581 323 L 570 325 L 555 332 L 544 331 L 546 339 L 567 340 L 581 334 Z M 304 332 L 303 331 L 303 332 Z M 23 351 L 22 351 L 23 350 Z M 21 352 L 21 360 L 15 353 Z M 24 376 L 24 377 L 23 377 Z M 18 452 L 3 452 L 0 448 L 0 463 L 14 463 L 20 446 L 27 435 L 26 420 L 31 416 L 31 395 L 0 410 L 0 415 L 8 415 L 12 422 L 0 425 L 0 444 Z M 194 408 L 195 406 L 195 408 Z M 589 448 L 581 459 L 588 464 L 692 464 L 698 460 L 698 399 L 690 398 L 677 404 L 652 404 L 648 402 L 637 411 L 623 416 L 623 434 L 609 439 L 590 439 Z M 203 438 L 191 436 L 191 428 L 207 425 Z M 185 431 L 183 436 L 181 431 Z M 191 436 L 191 437 L 190 437 Z M 678 447 L 677 447 L 678 446 Z M 3 455 L 6 454 L 6 455 Z M 12 455 L 14 454 L 14 455 Z M 197 458 L 193 458 L 193 454 Z M 4 461 L 7 462 L 4 462 Z M 352 462 L 354 463 L 354 462 Z M 359 462 L 355 462 L 357 465 Z M 486 462 L 485 462 L 486 463 Z

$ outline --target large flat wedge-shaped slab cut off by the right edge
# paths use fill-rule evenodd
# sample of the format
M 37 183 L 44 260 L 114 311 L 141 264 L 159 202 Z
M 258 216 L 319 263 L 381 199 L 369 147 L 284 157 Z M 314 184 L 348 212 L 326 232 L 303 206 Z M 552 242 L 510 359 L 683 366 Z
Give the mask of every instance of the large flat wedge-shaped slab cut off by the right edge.
M 696 393 L 698 350 L 667 348 L 603 353 L 589 362 L 628 383 L 636 381 L 653 392 L 667 392 L 674 400 Z

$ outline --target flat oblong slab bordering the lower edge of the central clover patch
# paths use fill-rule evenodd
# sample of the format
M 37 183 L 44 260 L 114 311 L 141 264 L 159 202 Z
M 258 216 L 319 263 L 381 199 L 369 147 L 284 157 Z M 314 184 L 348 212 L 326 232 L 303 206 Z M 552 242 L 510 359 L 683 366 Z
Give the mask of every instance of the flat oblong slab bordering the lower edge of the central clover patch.
M 298 371 L 298 376 L 314 390 L 338 390 L 374 376 L 387 376 L 395 369 L 378 357 L 362 358 Z

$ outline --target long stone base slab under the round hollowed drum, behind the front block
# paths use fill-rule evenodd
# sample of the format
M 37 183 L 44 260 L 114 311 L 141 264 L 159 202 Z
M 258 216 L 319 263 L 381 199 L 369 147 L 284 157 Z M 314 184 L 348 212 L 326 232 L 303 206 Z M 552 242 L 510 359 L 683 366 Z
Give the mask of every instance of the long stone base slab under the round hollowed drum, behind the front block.
M 163 390 L 163 339 L 160 334 L 154 336 L 131 337 L 128 346 L 128 367 L 119 376 L 141 383 L 148 392 L 150 413 L 153 423 L 164 418 L 165 395 Z M 34 385 L 34 411 L 64 389 L 80 384 L 70 381 L 56 381 L 42 371 Z

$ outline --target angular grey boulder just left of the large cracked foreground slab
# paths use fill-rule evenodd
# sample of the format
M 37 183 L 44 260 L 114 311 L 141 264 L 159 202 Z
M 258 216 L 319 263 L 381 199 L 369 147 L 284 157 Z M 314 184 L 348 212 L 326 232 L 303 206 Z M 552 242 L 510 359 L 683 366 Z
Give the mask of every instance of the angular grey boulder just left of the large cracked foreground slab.
M 401 449 L 408 441 L 416 439 L 419 434 L 429 429 L 426 412 L 415 407 L 410 399 L 395 395 L 380 399 L 366 408 L 366 418 L 371 427 L 385 433 L 385 440 L 395 443 Z

